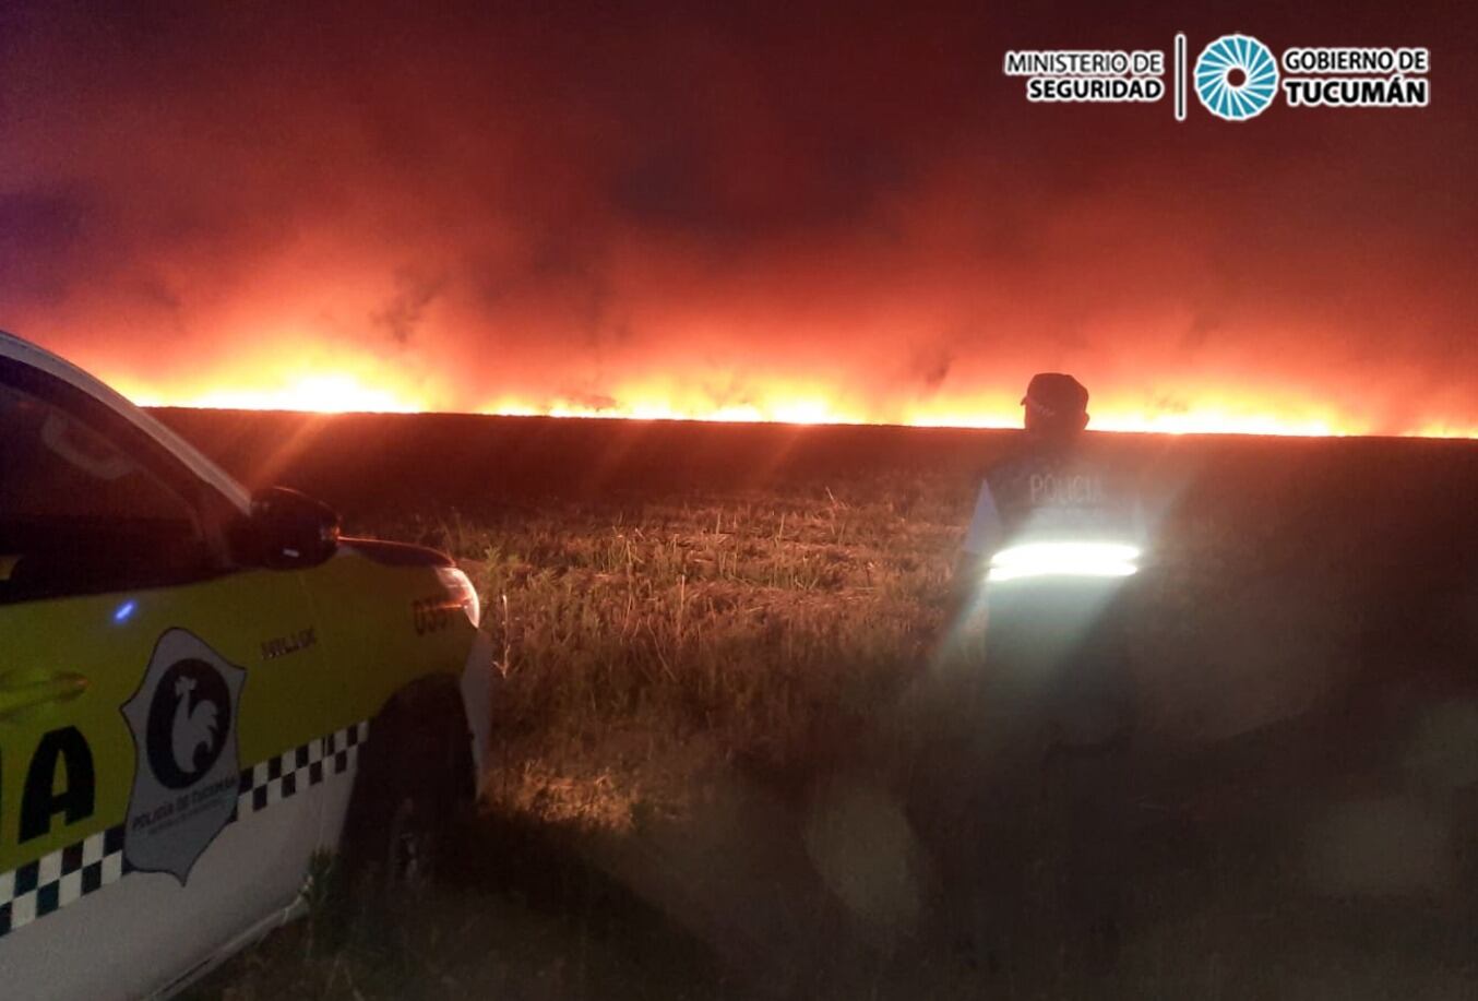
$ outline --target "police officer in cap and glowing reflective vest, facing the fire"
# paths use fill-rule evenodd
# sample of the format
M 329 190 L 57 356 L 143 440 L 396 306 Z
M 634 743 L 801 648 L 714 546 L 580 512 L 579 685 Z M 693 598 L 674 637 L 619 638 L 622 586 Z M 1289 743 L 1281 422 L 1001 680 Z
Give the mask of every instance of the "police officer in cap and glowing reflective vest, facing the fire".
M 1015 915 L 999 912 L 1009 906 L 1002 899 L 1033 893 L 1007 884 L 1042 868 L 1032 853 L 1055 844 L 1054 930 L 1092 964 L 1111 964 L 1132 705 L 1116 600 L 1142 547 L 1140 506 L 1122 470 L 1088 448 L 1082 383 L 1033 376 L 1021 404 L 1026 433 L 980 486 L 946 645 L 974 673 L 967 775 L 996 869 L 981 874 L 987 909 L 998 911 L 986 915 L 996 929 L 986 936 L 1009 934 L 1002 923 Z M 1043 818 L 1051 829 L 1030 829 Z

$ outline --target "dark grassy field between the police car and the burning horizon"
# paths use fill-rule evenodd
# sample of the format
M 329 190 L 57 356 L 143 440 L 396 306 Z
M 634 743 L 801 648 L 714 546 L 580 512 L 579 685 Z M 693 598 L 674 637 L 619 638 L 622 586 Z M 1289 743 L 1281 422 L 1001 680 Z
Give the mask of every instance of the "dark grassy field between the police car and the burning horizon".
M 498 651 L 486 812 L 445 890 L 328 893 L 232 997 L 1468 997 L 1478 449 L 1103 438 L 1153 497 L 1140 729 L 1070 794 L 968 764 L 940 655 L 999 432 L 161 411 L 346 531 L 452 552 Z M 968 671 L 968 665 L 964 665 Z M 1009 788 L 1002 795 L 981 790 Z M 325 881 L 327 884 L 328 881 Z

